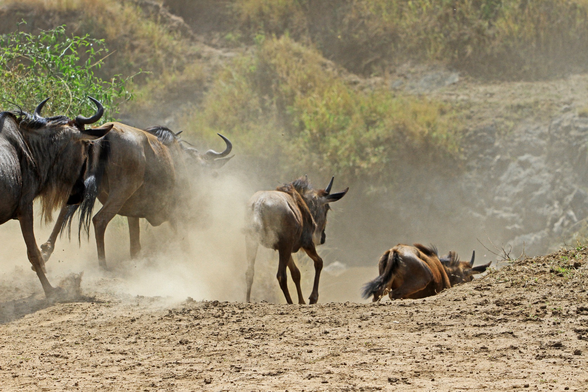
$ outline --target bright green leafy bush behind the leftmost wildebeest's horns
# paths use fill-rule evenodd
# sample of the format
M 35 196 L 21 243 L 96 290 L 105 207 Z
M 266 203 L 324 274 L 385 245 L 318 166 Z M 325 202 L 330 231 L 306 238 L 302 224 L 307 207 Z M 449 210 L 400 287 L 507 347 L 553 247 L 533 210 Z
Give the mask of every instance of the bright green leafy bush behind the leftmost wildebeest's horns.
M 5 101 L 35 108 L 51 97 L 46 113 L 74 118 L 88 112 L 87 95 L 102 102 L 103 120 L 113 119 L 118 105 L 132 98 L 128 79 L 103 81 L 94 75 L 108 49 L 103 40 L 66 36 L 65 26 L 36 35 L 22 31 L 0 36 L 0 91 Z

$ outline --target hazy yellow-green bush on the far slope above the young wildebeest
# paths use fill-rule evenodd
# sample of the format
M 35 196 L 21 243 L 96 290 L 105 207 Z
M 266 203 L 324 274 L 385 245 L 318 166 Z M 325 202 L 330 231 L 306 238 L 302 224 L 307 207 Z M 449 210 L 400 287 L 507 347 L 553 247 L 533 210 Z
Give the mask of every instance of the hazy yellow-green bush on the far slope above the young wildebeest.
M 226 66 L 185 129 L 227 133 L 243 152 L 286 176 L 336 174 L 348 182 L 395 178 L 407 163 L 456 162 L 451 108 L 387 89 L 355 89 L 320 53 L 287 36 L 266 39 Z

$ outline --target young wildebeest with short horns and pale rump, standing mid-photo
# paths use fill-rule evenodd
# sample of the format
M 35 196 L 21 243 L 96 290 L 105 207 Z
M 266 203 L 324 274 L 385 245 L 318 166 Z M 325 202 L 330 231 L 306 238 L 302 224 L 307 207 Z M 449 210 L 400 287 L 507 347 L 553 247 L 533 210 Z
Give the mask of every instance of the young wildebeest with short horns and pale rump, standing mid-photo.
M 298 292 L 298 303 L 305 303 L 300 289 L 300 271 L 292 253 L 304 249 L 315 263 L 315 283 L 309 297 L 314 304 L 319 299 L 319 278 L 323 268 L 323 259 L 316 253 L 315 246 L 325 243 L 325 226 L 329 203 L 345 196 L 349 188 L 338 193 L 330 193 L 333 177 L 324 190 L 314 190 L 306 177 L 279 186 L 276 190 L 257 192 L 248 203 L 248 220 L 246 228 L 246 253 L 249 262 L 245 279 L 247 283 L 247 301 L 251 297 L 255 257 L 259 244 L 278 250 L 278 282 L 288 303 L 292 298 L 288 292 L 286 266 L 290 269 L 292 279 Z

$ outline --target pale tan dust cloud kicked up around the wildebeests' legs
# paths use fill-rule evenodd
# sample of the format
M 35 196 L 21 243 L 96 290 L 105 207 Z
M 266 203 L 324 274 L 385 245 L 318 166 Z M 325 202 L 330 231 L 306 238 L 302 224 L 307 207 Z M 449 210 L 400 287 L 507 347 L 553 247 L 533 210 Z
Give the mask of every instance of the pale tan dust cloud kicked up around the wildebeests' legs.
M 141 219 L 142 251 L 138 259 L 132 260 L 129 256 L 126 218 L 116 216 L 106 230 L 108 271 L 98 267 L 93 231 L 89 241 L 82 235 L 78 244 L 77 233 L 72 227 L 71 241 L 66 236 L 59 238 L 46 264 L 49 281 L 54 286 L 63 285 L 60 280 L 71 274 L 83 274 L 81 290 L 86 296 L 93 293 L 109 293 L 121 299 L 159 296 L 164 302 L 187 297 L 194 300 L 245 300 L 247 265 L 243 227 L 246 201 L 257 190 L 273 189 L 288 179 L 267 174 L 255 177 L 250 174 L 254 171 L 250 167 L 239 166 L 239 160 L 235 158 L 218 173 L 195 176 L 192 208 L 198 212 L 198 218 L 193 222 L 179 225 L 174 231 L 169 223 L 152 227 Z M 259 168 L 256 170 L 262 173 Z M 94 213 L 99 207 L 96 203 Z M 341 212 L 330 213 L 333 229 L 329 233 L 336 233 L 336 222 L 345 219 Z M 193 212 L 189 213 L 186 215 L 193 215 Z M 39 222 L 39 216 L 36 216 L 35 234 L 40 246 L 48 238 L 52 223 L 45 226 Z M 75 221 L 72 226 L 76 226 Z M 4 242 L 4 252 L 0 255 L 0 303 L 25 297 L 42 300 L 41 285 L 26 257 L 18 221 L 0 226 L 0 238 Z M 325 259 L 320 300 L 359 301 L 359 287 L 370 279 L 373 268 L 349 267 L 347 260 L 333 259 L 329 241 L 319 248 L 319 252 Z M 308 297 L 315 273 L 312 260 L 302 252 L 294 257 L 302 272 L 303 293 Z M 275 277 L 277 268 L 278 254 L 260 246 L 255 264 L 253 301 L 285 302 Z M 295 293 L 291 280 L 290 291 Z

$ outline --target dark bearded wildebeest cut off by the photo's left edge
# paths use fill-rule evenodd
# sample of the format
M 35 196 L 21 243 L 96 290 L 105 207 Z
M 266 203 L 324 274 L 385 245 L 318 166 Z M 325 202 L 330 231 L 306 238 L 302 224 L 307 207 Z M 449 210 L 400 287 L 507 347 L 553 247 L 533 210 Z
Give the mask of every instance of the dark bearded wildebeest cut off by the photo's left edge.
M 44 260 L 33 231 L 33 200 L 41 197 L 46 220 L 56 207 L 83 197 L 79 180 L 84 169 L 88 140 L 102 138 L 112 125 L 85 129 L 102 117 L 102 105 L 91 118 L 44 118 L 39 103 L 31 115 L 22 110 L 0 112 L 0 224 L 18 219 L 26 253 L 46 296 L 55 292 L 44 273 Z

